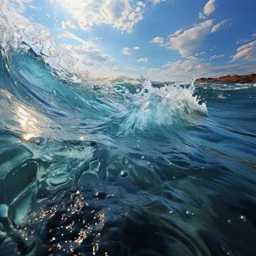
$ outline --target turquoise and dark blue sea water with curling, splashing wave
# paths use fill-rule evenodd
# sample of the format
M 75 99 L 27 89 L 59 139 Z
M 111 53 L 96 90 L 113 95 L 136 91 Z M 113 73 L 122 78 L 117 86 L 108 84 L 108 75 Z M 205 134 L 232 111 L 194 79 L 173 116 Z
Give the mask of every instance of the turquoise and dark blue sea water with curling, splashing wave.
M 256 254 L 254 85 L 0 67 L 1 255 Z

